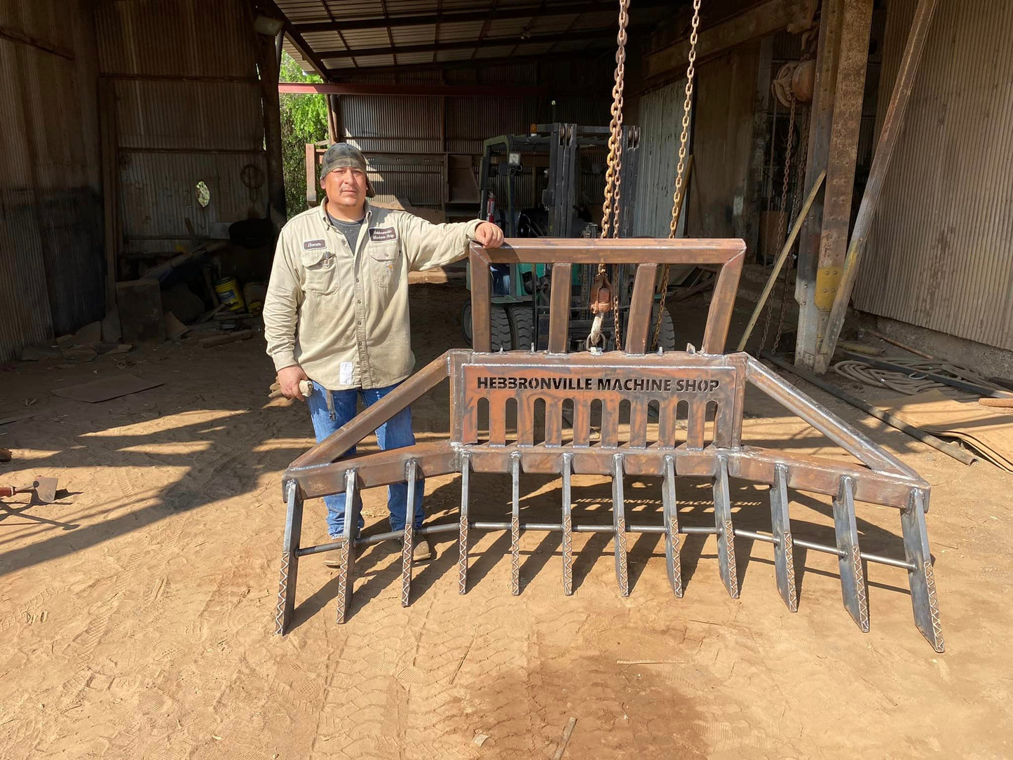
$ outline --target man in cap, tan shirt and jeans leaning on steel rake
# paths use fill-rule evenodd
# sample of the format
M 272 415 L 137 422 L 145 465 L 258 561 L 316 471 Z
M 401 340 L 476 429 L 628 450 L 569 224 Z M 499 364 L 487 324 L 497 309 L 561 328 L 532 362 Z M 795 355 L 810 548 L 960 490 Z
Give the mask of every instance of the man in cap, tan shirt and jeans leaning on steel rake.
M 408 272 L 463 258 L 469 240 L 494 248 L 503 239 L 489 222 L 430 224 L 370 206 L 366 199 L 376 194 L 366 159 L 346 143 L 327 149 L 320 186 L 326 201 L 282 230 L 263 303 L 267 354 L 278 382 L 288 398 L 308 400 L 318 442 L 356 415 L 360 396 L 367 406 L 376 403 L 411 374 Z M 302 380 L 313 381 L 308 399 L 299 388 Z M 414 444 L 410 410 L 382 425 L 377 440 L 384 450 Z M 416 485 L 417 528 L 424 481 Z M 391 530 L 404 528 L 407 498 L 406 483 L 387 488 Z M 344 495 L 325 497 L 324 503 L 327 531 L 338 537 Z M 364 524 L 360 516 L 359 528 Z M 432 556 L 428 542 L 419 541 L 414 558 Z

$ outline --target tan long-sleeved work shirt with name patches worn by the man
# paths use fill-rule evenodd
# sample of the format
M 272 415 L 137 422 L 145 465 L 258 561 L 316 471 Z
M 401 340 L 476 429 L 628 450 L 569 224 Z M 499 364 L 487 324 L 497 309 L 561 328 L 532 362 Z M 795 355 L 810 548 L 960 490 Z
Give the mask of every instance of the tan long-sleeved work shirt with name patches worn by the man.
M 275 369 L 299 365 L 329 390 L 382 388 L 411 374 L 408 272 L 463 258 L 480 220 L 431 224 L 366 205 L 356 249 L 326 204 L 293 217 L 275 250 L 263 301 Z

